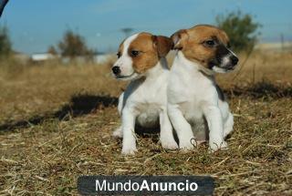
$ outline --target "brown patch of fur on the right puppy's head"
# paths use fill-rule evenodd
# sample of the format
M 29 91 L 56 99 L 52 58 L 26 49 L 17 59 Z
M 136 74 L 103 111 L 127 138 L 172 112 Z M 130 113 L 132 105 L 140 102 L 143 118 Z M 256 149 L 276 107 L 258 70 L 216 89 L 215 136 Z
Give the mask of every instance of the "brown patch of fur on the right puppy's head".
M 182 50 L 184 57 L 199 62 L 203 67 L 208 67 L 209 62 L 216 55 L 216 47 L 203 45 L 205 41 L 210 39 L 218 40 L 224 46 L 229 42 L 229 38 L 223 30 L 208 25 L 193 26 L 172 35 L 173 48 Z

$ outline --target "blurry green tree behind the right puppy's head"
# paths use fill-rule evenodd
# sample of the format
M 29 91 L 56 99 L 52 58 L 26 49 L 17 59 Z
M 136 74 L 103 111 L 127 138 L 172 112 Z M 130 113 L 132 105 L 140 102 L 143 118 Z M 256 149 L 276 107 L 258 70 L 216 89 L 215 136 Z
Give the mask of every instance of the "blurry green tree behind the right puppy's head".
M 217 15 L 216 23 L 227 33 L 230 38 L 230 46 L 236 52 L 252 49 L 260 35 L 258 28 L 261 25 L 254 21 L 252 15 L 244 15 L 241 11 Z

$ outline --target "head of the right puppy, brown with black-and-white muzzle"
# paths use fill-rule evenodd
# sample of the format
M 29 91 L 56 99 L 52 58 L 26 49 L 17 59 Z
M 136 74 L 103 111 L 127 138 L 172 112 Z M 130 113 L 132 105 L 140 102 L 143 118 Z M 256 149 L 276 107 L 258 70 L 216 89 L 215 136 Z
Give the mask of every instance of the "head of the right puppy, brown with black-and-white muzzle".
M 206 73 L 225 73 L 235 69 L 238 58 L 229 46 L 226 33 L 215 27 L 200 25 L 183 29 L 172 35 L 174 49 L 200 65 Z

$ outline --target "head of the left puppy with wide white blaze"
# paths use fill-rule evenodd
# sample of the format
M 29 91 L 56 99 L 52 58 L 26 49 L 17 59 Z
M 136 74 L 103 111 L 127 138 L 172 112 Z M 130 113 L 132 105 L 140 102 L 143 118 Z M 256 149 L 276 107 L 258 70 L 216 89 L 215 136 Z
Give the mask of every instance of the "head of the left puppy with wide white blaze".
M 125 39 L 119 47 L 118 61 L 112 72 L 118 79 L 131 80 L 146 76 L 172 48 L 172 40 L 166 36 L 140 33 Z

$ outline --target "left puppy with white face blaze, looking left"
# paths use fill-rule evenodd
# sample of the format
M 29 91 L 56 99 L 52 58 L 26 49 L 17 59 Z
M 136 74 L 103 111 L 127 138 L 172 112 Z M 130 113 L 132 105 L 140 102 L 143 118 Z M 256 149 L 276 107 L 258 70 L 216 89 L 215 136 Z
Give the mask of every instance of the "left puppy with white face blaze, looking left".
M 133 154 L 136 148 L 135 125 L 160 127 L 160 140 L 165 149 L 178 148 L 167 115 L 166 87 L 169 68 L 165 56 L 172 49 L 172 39 L 140 33 L 125 39 L 112 67 L 118 79 L 130 80 L 120 95 L 118 109 L 121 126 L 113 132 L 122 137 L 122 154 Z

